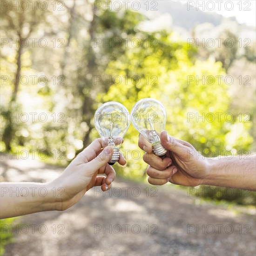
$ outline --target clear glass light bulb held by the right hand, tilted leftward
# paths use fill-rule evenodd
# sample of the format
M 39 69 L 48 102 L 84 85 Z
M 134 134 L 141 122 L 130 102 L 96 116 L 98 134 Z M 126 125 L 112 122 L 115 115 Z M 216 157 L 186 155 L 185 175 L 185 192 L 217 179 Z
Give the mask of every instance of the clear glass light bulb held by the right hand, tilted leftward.
M 151 144 L 155 155 L 165 155 L 167 150 L 157 134 L 165 129 L 166 111 L 162 103 L 151 98 L 138 101 L 131 112 L 132 123 Z

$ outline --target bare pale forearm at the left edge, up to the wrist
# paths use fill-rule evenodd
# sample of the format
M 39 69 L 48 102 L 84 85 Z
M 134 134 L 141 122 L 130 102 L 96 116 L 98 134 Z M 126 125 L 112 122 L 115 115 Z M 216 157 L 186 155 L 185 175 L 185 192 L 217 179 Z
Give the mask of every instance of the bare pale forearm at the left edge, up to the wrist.
M 1 182 L 0 218 L 56 209 L 56 198 L 48 183 Z

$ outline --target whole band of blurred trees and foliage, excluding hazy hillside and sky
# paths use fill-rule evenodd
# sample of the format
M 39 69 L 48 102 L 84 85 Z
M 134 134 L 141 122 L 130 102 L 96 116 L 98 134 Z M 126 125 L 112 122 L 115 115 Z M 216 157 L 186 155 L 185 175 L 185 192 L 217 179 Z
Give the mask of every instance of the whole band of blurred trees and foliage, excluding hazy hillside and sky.
M 235 154 L 254 150 L 255 114 L 246 122 L 236 112 L 239 102 L 232 101 L 230 86 L 216 79 L 225 77 L 231 68 L 236 48 L 224 48 L 216 58 L 210 54 L 202 58 L 200 48 L 188 47 L 174 31 L 140 30 L 140 22 L 147 20 L 141 13 L 95 10 L 92 1 L 65 3 L 67 8 L 58 15 L 50 10 L 25 13 L 15 9 L 1 15 L 2 37 L 19 42 L 17 47 L 7 44 L 2 48 L 1 74 L 19 81 L 4 81 L 1 76 L 2 151 L 37 150 L 42 158 L 47 156 L 47 162 L 66 165 L 99 137 L 93 121 L 99 105 L 118 101 L 131 111 L 146 97 L 161 101 L 167 109 L 169 134 L 189 141 L 203 155 L 211 157 L 209 150 L 232 150 Z M 225 34 L 236 37 L 228 31 Z M 47 47 L 38 43 L 22 47 L 20 41 L 30 37 L 36 42 L 45 38 Z M 121 44 L 115 44 L 115 39 Z M 35 81 L 20 82 L 24 75 L 35 75 Z M 211 76 L 215 79 L 208 83 L 198 81 Z M 247 102 L 243 104 L 244 113 L 251 113 L 251 109 Z M 37 115 L 34 121 L 30 115 L 23 122 L 15 118 L 17 113 Z M 47 115 L 46 121 L 38 118 L 41 113 Z M 215 116 L 214 121 L 196 118 L 209 113 Z M 220 121 L 217 113 L 222 113 Z M 223 118 L 228 113 L 234 120 Z M 191 116 L 195 118 L 189 119 Z M 121 150 L 128 165 L 117 166 L 117 172 L 140 180 L 147 165 L 137 146 L 138 132 L 131 126 L 124 140 Z M 242 200 L 239 195 L 236 199 Z

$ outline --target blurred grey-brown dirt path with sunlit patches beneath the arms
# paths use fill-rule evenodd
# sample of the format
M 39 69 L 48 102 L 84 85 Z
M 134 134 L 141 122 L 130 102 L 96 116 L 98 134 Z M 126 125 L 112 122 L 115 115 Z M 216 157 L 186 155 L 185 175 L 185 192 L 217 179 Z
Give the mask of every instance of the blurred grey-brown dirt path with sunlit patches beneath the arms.
M 1 163 L 9 181 L 44 182 L 61 171 L 36 161 Z M 172 185 L 118 178 L 110 192 L 91 189 L 67 211 L 18 221 L 27 227 L 15 231 L 13 225 L 15 243 L 7 245 L 6 256 L 256 255 L 254 210 L 238 213 L 201 202 Z

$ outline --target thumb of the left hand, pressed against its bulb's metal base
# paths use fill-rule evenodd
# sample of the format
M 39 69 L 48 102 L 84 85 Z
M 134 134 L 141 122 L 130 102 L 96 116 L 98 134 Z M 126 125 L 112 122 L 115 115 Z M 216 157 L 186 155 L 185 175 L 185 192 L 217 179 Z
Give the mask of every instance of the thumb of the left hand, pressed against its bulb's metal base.
M 111 159 L 112 154 L 113 148 L 111 146 L 108 146 L 104 148 L 96 158 L 88 162 L 86 165 L 90 170 L 89 172 L 91 173 L 91 175 L 93 175 L 96 170 L 107 164 Z

